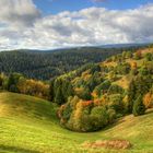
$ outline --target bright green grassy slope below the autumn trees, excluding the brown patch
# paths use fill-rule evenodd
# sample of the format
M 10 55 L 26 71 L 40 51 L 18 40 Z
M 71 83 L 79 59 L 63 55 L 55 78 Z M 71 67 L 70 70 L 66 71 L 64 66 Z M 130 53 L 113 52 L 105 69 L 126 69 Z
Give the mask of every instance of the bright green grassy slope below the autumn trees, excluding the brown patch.
M 10 153 L 80 153 L 153 151 L 153 113 L 141 117 L 127 116 L 107 129 L 78 133 L 62 129 L 55 116 L 56 106 L 32 96 L 0 93 L 0 152 Z M 81 143 L 95 140 L 126 139 L 133 148 L 128 151 L 87 150 Z

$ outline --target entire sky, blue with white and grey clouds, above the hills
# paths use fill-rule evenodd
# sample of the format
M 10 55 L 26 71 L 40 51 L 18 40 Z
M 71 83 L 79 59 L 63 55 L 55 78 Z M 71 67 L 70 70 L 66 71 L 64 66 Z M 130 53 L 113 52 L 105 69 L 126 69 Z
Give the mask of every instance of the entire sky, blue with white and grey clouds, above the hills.
M 0 0 L 0 50 L 153 42 L 153 0 Z

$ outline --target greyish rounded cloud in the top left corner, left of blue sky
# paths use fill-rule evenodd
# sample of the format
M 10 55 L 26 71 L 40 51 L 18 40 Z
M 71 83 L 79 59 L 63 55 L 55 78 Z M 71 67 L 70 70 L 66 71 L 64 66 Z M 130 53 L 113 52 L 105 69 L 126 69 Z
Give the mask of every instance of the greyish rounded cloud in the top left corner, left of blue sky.
M 32 0 L 0 0 L 0 22 L 28 26 L 40 16 Z

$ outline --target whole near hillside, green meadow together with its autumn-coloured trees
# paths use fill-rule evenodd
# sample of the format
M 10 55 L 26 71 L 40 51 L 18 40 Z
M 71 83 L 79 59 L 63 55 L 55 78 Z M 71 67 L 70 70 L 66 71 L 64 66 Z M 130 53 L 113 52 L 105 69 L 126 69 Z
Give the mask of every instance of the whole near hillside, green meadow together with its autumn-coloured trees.
M 50 84 L 1 74 L 1 90 L 20 94 L 0 93 L 0 152 L 152 152 L 152 66 L 150 47 L 85 64 Z

